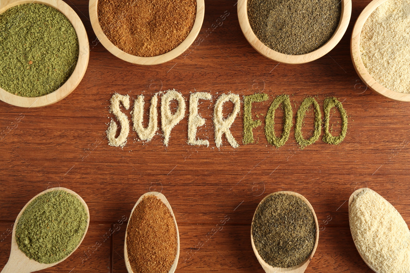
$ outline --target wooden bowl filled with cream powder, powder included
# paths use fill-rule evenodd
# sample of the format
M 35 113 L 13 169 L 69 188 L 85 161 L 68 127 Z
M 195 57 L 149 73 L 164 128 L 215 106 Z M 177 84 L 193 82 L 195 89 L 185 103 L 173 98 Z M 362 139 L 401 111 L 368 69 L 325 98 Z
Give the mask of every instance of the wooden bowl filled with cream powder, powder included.
M 360 79 L 389 99 L 410 102 L 410 0 L 373 0 L 353 27 L 351 58 Z

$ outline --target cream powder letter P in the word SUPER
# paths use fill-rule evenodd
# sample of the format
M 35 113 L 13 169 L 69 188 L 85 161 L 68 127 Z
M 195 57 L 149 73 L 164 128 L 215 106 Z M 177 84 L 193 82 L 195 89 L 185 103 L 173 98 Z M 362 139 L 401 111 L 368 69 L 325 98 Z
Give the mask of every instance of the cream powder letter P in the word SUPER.
M 178 108 L 175 114 L 171 113 L 169 108 L 169 103 L 171 100 L 177 100 Z M 177 92 L 175 89 L 168 90 L 161 98 L 161 127 L 162 132 L 164 132 L 164 144 L 168 146 L 169 135 L 171 135 L 171 130 L 174 128 L 178 122 L 180 122 L 185 116 L 185 100 L 181 93 Z

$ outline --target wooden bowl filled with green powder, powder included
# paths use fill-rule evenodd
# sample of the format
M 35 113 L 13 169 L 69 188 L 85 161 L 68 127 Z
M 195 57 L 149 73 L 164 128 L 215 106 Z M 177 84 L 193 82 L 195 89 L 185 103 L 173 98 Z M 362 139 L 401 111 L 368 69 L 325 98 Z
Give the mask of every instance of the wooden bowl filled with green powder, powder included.
M 62 0 L 1 1 L 0 60 L 0 100 L 21 107 L 53 104 L 87 70 L 87 32 Z

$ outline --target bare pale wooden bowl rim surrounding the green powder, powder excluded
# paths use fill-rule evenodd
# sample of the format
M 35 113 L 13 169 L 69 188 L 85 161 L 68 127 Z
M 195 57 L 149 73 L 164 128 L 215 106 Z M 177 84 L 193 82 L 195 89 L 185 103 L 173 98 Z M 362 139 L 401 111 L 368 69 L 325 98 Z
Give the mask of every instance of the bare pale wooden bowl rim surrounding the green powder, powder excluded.
M 75 29 L 75 32 L 77 33 L 78 45 L 80 49 L 77 65 L 75 66 L 73 74 L 71 74 L 68 80 L 60 88 L 50 94 L 40 97 L 22 97 L 11 94 L 6 90 L 0 88 L 0 100 L 2 100 L 3 102 L 20 107 L 41 107 L 53 104 L 61 99 L 64 99 L 71 92 L 73 92 L 78 84 L 80 84 L 80 81 L 82 80 L 82 77 L 84 77 L 85 71 L 87 70 L 88 66 L 90 51 L 88 36 L 80 17 L 78 17 L 75 11 L 62 0 L 1 0 L 0 14 L 11 7 L 25 3 L 39 3 L 48 5 L 64 14 L 71 22 Z

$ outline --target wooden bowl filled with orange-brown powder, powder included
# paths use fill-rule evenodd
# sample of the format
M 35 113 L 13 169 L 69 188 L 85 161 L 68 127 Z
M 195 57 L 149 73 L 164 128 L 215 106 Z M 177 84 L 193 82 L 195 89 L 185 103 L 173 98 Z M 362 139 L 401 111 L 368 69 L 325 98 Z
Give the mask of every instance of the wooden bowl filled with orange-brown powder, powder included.
M 90 0 L 91 25 L 114 56 L 139 65 L 170 61 L 194 43 L 204 0 Z

